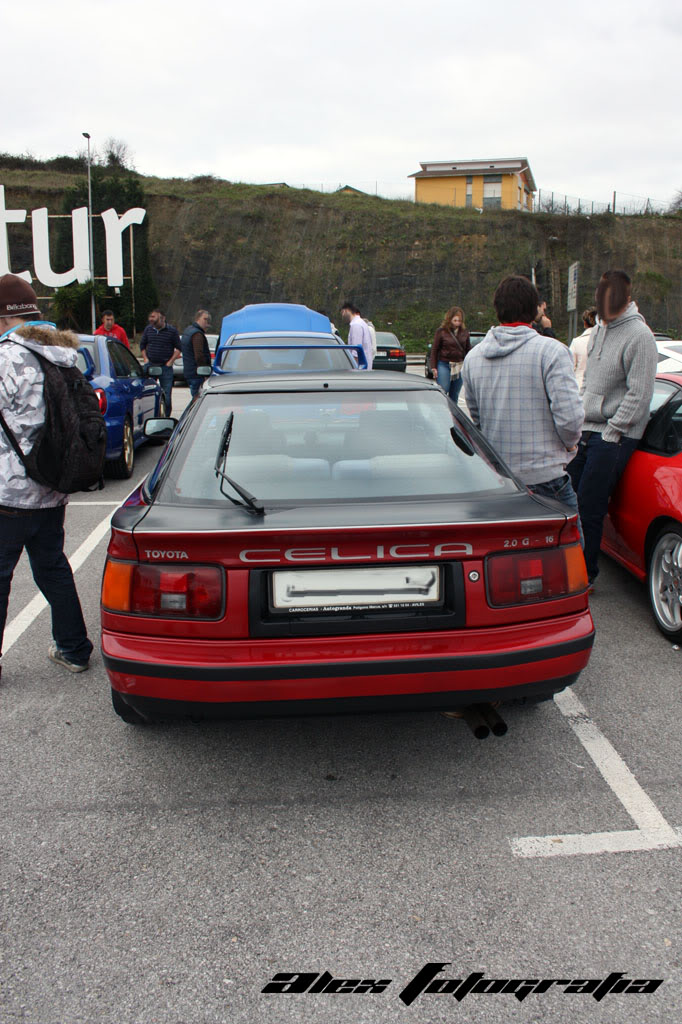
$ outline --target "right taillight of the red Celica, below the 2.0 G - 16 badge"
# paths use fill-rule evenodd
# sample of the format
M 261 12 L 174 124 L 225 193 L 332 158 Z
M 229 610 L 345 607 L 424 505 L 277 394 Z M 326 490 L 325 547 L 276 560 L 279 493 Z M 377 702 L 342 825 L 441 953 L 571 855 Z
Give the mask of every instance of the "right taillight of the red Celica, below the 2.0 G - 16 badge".
M 585 558 L 579 544 L 491 555 L 485 573 L 488 600 L 496 607 L 567 597 L 587 587 Z

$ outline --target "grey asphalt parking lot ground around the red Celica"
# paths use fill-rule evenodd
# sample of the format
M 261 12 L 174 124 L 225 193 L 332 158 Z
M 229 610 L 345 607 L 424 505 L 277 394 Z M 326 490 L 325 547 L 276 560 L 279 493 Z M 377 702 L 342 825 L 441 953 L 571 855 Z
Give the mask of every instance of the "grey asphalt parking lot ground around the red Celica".
M 158 453 L 70 506 L 93 638 L 106 517 Z M 604 559 L 578 684 L 505 708 L 482 742 L 434 714 L 127 726 L 97 652 L 81 676 L 48 662 L 35 595 L 23 559 L 0 686 L 3 1024 L 682 1019 L 682 652 L 620 567 Z M 429 963 L 663 983 L 406 1005 Z M 263 993 L 280 972 L 390 984 Z

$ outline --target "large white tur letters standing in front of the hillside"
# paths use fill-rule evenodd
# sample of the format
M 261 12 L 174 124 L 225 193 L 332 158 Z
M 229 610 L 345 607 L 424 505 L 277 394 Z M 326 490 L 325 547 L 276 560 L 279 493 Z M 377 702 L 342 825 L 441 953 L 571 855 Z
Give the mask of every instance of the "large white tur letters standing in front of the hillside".
M 13 273 L 9 259 L 8 224 L 23 224 L 26 221 L 26 210 L 7 210 L 5 207 L 5 186 L 0 185 L 0 275 Z M 123 231 L 132 224 L 141 224 L 146 211 L 141 207 L 133 207 L 121 216 L 112 207 L 100 215 L 104 222 L 106 234 L 106 284 L 111 288 L 120 288 L 123 284 Z M 74 247 L 74 265 L 71 270 L 57 273 L 52 269 L 50 261 L 49 219 L 47 207 L 34 210 L 31 214 L 33 232 L 33 264 L 36 276 L 42 285 L 49 288 L 61 288 L 74 281 L 85 284 L 90 280 L 90 259 L 88 246 L 88 211 L 87 207 L 79 207 L 71 214 L 71 227 Z M 17 276 L 31 283 L 30 270 L 22 270 Z

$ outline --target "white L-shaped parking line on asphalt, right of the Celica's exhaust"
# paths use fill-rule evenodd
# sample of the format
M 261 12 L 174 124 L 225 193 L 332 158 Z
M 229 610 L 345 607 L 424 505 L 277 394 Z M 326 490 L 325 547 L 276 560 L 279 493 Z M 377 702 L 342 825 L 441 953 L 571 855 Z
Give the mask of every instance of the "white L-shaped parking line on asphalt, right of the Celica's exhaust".
M 557 708 L 594 761 L 611 792 L 637 828 L 631 831 L 589 833 L 566 836 L 526 836 L 510 840 L 517 857 L 567 857 L 587 853 L 628 853 L 682 847 L 682 828 L 673 828 L 587 713 L 576 694 L 566 689 L 554 697 Z

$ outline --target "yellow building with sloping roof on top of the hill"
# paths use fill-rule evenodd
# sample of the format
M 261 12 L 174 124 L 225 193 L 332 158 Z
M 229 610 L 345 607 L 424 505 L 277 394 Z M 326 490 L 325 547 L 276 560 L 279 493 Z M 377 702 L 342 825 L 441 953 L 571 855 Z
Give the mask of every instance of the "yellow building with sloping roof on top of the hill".
M 416 203 L 477 210 L 532 210 L 536 182 L 527 160 L 438 160 L 420 164 Z

